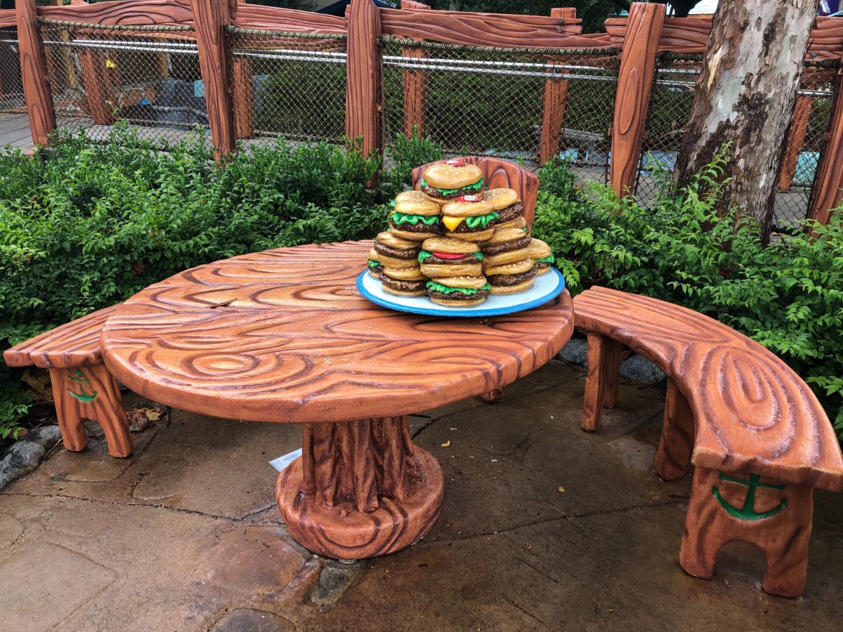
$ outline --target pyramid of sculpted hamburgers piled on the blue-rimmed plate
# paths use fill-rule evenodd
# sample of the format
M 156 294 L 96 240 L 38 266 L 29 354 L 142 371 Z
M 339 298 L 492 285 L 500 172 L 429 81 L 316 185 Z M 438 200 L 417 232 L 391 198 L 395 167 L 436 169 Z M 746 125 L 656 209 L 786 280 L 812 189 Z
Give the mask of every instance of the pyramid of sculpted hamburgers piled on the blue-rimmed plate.
M 384 292 L 465 308 L 490 293 L 524 292 L 550 269 L 550 247 L 531 238 L 518 193 L 483 185 L 481 169 L 454 158 L 428 167 L 421 190 L 395 198 L 389 230 L 368 257 Z

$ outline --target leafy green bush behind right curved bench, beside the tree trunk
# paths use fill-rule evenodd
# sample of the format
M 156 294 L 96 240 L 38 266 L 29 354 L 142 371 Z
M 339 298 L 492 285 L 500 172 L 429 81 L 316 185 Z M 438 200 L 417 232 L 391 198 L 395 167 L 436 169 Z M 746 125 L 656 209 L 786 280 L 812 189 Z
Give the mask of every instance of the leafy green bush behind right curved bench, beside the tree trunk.
M 843 438 L 843 212 L 815 238 L 765 248 L 757 224 L 718 216 L 718 156 L 678 192 L 662 178 L 652 208 L 604 185 L 574 186 L 564 163 L 540 174 L 534 223 L 572 293 L 593 284 L 678 303 L 776 352 L 810 383 Z M 703 193 L 705 191 L 705 193 Z

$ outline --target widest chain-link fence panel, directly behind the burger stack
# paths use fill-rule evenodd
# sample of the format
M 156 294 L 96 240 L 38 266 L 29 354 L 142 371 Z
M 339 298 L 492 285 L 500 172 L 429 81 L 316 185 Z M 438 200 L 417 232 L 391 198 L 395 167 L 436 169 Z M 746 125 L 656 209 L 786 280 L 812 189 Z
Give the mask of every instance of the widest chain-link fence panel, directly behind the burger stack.
M 418 123 L 448 153 L 535 162 L 547 100 L 560 110 L 551 117 L 559 130 L 550 141 L 556 155 L 583 179 L 605 179 L 616 51 L 495 49 L 393 37 L 382 38 L 382 46 L 387 144 Z M 545 99 L 546 90 L 553 99 Z

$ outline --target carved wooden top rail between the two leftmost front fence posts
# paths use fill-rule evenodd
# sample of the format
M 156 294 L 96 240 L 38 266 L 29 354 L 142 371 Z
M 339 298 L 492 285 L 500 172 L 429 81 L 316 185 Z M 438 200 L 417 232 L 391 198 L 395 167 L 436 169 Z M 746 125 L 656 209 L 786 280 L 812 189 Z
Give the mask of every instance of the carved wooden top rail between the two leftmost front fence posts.
M 39 7 L 43 18 L 89 24 L 191 24 L 191 0 L 124 0 L 114 2 Z

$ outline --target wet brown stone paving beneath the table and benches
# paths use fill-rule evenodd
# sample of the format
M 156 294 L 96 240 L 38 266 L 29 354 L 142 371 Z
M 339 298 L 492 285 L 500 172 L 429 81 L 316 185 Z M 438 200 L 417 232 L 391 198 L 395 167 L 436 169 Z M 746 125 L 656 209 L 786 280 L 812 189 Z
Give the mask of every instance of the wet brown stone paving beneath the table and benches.
M 354 565 L 309 554 L 279 519 L 267 461 L 300 446 L 299 426 L 173 410 L 132 458 L 59 448 L 0 492 L 0 629 L 840 629 L 839 495 L 815 495 L 804 597 L 761 592 L 744 544 L 712 581 L 686 576 L 690 477 L 652 472 L 663 393 L 624 384 L 588 435 L 583 384 L 552 362 L 497 404 L 412 417 L 442 463 L 442 517 Z

